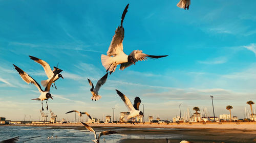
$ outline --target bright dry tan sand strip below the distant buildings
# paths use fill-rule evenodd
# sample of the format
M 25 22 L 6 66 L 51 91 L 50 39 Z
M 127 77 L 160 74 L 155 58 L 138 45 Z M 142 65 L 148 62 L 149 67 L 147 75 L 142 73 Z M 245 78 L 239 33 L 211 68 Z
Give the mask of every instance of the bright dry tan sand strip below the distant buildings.
M 256 131 L 256 122 L 231 122 L 231 123 L 87 123 L 91 127 L 118 127 L 118 128 L 177 128 L 177 129 L 228 129 Z M 71 124 L 11 124 L 1 126 L 49 126 L 72 127 L 83 126 L 81 123 Z

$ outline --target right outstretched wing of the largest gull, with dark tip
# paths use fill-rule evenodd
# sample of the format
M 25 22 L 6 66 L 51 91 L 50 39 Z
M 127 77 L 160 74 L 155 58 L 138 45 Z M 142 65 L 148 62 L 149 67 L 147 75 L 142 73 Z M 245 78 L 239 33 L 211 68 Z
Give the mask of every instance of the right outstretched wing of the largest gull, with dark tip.
M 130 53 L 131 56 L 133 56 L 134 62 L 138 62 L 138 61 L 145 61 L 148 58 L 149 59 L 158 59 L 158 58 L 163 58 L 165 56 L 168 55 L 150 55 L 150 54 L 145 54 L 142 52 L 142 50 L 134 50 Z M 132 62 L 126 62 L 126 63 L 122 63 L 120 66 L 120 70 L 124 70 L 125 68 L 129 67 L 133 65 Z

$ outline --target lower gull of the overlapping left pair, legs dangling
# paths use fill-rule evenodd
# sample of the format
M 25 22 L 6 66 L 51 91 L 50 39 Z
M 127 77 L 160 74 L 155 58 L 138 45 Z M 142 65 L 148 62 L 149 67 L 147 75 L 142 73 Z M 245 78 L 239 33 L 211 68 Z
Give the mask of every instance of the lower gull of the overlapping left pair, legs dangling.
M 54 67 L 54 74 L 53 74 L 53 77 L 50 79 L 50 81 L 48 82 L 45 90 L 43 91 L 40 87 L 40 84 L 38 82 L 36 82 L 35 79 L 33 79 L 31 76 L 29 76 L 26 72 L 24 72 L 22 69 L 20 69 L 19 67 L 15 66 L 13 64 L 13 66 L 15 67 L 15 69 L 17 70 L 18 74 L 20 75 L 20 77 L 22 77 L 22 79 L 27 82 L 28 84 L 29 83 L 32 83 L 34 84 L 38 91 L 40 92 L 40 96 L 38 98 L 35 98 L 35 99 L 32 99 L 32 100 L 41 100 L 41 103 L 43 100 L 46 100 L 46 104 L 47 104 L 47 101 L 49 98 L 52 99 L 52 95 L 50 94 L 50 88 L 51 88 L 51 84 L 52 84 L 52 81 L 53 79 L 55 78 L 55 76 L 60 73 L 62 70 L 61 69 L 58 69 L 56 67 Z M 48 104 L 47 104 L 47 107 L 46 109 L 48 110 Z M 44 108 L 42 107 L 42 110 L 44 110 Z

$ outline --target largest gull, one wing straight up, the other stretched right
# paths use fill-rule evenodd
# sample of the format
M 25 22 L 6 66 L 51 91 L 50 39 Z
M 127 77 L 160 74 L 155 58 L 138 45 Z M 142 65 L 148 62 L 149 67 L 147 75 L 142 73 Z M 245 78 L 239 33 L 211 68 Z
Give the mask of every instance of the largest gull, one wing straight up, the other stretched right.
M 125 68 L 135 65 L 138 61 L 145 61 L 147 58 L 149 59 L 158 59 L 165 57 L 167 55 L 150 55 L 142 53 L 142 50 L 134 50 L 129 55 L 123 52 L 123 38 L 124 38 L 124 28 L 123 28 L 123 19 L 127 12 L 129 4 L 125 7 L 121 24 L 117 27 L 115 31 L 115 35 L 112 38 L 112 41 L 109 46 L 107 55 L 101 54 L 101 63 L 106 69 L 106 72 L 110 71 L 110 74 L 116 70 L 118 65 L 120 66 L 119 70 L 124 70 Z

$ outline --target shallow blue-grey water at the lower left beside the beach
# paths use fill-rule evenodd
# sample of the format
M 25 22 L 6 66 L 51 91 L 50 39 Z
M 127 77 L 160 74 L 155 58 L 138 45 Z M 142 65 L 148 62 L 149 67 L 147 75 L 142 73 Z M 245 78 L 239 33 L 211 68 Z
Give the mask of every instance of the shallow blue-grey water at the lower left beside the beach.
M 97 132 L 99 134 L 101 131 Z M 57 138 L 55 136 L 57 135 Z M 19 136 L 18 142 L 93 142 L 94 133 L 88 130 L 53 127 L 0 126 L 0 141 Z M 48 136 L 50 139 L 48 139 Z M 53 137 L 52 137 L 53 136 Z M 103 141 L 105 138 L 105 141 Z M 100 138 L 100 142 L 114 143 L 122 135 L 112 134 Z

